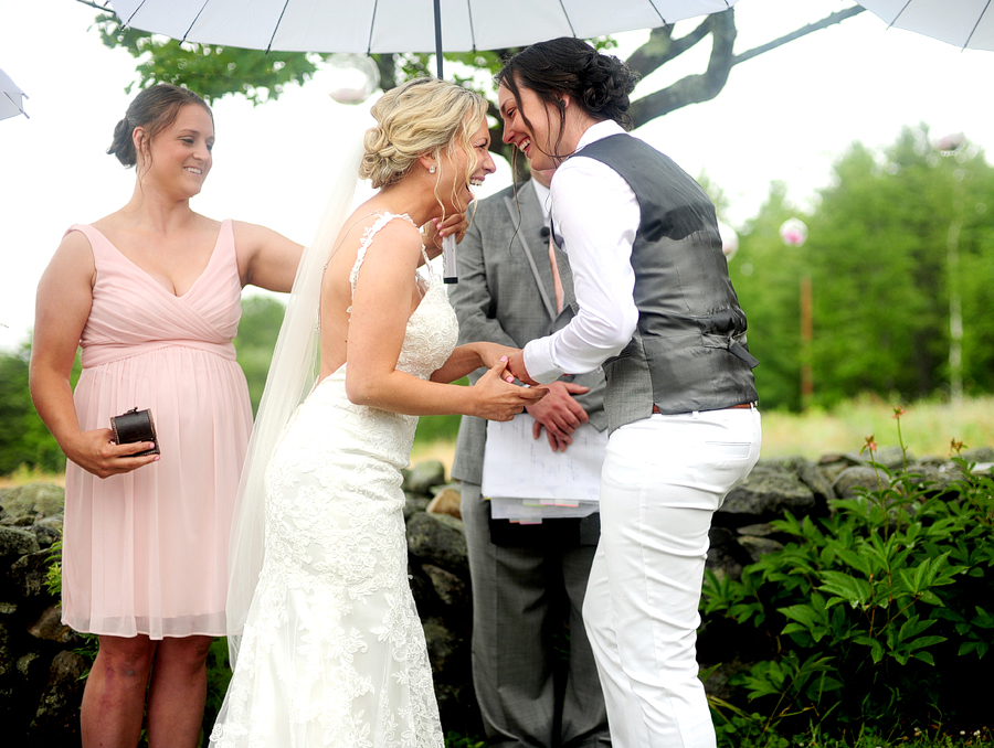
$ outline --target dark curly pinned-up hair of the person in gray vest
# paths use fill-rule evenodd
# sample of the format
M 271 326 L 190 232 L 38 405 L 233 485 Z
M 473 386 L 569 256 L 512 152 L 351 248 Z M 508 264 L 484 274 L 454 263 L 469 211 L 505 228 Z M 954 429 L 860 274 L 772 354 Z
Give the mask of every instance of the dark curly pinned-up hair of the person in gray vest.
M 519 87 L 532 90 L 543 103 L 559 110 L 557 153 L 549 156 L 567 156 L 558 152 L 565 127 L 563 94 L 594 119 L 613 119 L 626 130 L 632 129 L 628 94 L 635 89 L 638 76 L 617 57 L 602 54 L 582 40 L 561 36 L 532 44 L 510 57 L 495 81 L 514 94 L 519 110 Z M 521 117 L 530 128 L 531 122 L 524 111 Z

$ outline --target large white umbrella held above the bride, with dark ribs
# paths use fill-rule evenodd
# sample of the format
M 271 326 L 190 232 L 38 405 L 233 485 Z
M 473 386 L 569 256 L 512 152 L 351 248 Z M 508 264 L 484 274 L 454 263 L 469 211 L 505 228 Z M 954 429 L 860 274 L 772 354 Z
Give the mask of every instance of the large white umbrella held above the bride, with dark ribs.
M 281 52 L 468 52 L 654 29 L 738 0 L 110 0 L 125 25 Z M 440 63 L 441 64 L 441 63 Z M 441 77 L 441 75 L 440 75 Z

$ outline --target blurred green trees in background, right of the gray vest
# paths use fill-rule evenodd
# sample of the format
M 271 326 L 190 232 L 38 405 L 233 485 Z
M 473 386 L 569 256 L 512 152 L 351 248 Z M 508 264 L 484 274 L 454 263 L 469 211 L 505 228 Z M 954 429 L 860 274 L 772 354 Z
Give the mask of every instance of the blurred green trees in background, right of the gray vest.
M 774 185 L 745 227 L 730 265 L 760 359 L 763 402 L 800 406 L 800 279 L 813 287 L 814 403 L 832 406 L 864 392 L 905 400 L 944 393 L 949 383 L 950 289 L 962 296 L 966 392 L 994 387 L 994 169 L 966 147 L 940 156 L 928 128 L 905 128 L 877 154 L 854 143 L 835 183 L 805 215 Z M 807 242 L 779 235 L 793 215 Z M 958 227 L 958 267 L 949 263 Z

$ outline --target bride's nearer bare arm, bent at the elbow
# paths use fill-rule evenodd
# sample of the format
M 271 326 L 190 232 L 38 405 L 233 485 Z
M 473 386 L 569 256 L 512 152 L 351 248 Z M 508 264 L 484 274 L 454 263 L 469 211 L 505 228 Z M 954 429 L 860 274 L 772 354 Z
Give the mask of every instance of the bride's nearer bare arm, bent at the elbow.
M 465 414 L 509 420 L 544 395 L 540 388 L 501 381 L 499 360 L 473 387 L 425 382 L 399 371 L 396 361 L 411 313 L 412 279 L 421 257 L 421 236 L 410 224 L 391 221 L 376 235 L 359 270 L 349 322 L 346 392 L 357 405 L 410 415 Z M 459 354 L 473 371 L 484 361 L 477 349 Z M 475 361 L 470 361 L 476 356 Z M 498 356 L 499 359 L 499 356 Z M 447 366 L 447 364 L 446 364 Z M 458 377 L 456 377 L 458 378 Z

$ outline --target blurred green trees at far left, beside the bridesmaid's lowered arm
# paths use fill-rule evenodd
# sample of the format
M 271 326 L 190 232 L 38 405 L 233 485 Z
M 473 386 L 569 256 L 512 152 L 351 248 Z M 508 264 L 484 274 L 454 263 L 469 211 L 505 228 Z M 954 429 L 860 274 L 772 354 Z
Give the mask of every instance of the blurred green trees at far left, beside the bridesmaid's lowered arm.
M 0 475 L 28 466 L 57 472 L 65 457 L 49 429 L 38 417 L 28 389 L 31 345 L 14 352 L 0 351 Z M 73 366 L 72 383 L 80 377 L 80 360 Z

